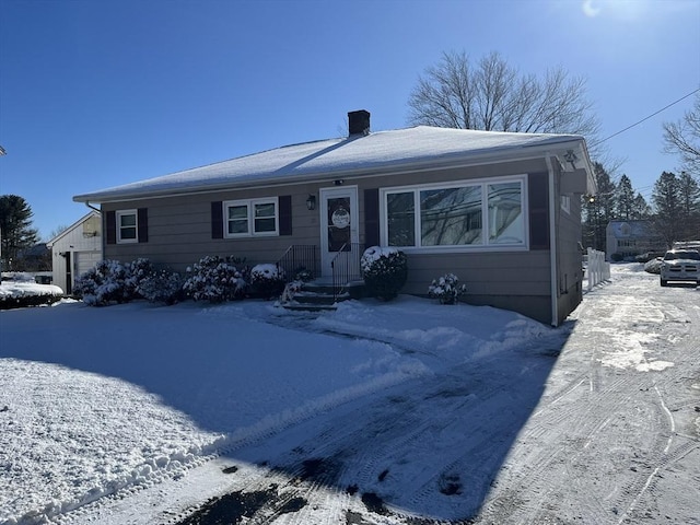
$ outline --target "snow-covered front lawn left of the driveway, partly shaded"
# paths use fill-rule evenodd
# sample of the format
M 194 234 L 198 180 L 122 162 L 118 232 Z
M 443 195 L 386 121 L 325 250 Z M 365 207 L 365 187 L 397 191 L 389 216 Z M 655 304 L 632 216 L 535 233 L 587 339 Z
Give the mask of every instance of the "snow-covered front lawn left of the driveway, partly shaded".
M 549 331 L 406 296 L 306 317 L 261 301 L 1 312 L 0 523 L 184 475 L 221 450 Z

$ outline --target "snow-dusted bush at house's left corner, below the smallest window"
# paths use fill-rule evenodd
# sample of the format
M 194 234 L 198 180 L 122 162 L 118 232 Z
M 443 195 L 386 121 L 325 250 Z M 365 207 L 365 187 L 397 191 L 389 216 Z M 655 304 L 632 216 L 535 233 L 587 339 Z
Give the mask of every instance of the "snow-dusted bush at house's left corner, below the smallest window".
M 118 260 L 101 260 L 75 280 L 73 295 L 90 306 L 127 303 L 136 296 L 136 287 L 130 277 L 128 266 Z

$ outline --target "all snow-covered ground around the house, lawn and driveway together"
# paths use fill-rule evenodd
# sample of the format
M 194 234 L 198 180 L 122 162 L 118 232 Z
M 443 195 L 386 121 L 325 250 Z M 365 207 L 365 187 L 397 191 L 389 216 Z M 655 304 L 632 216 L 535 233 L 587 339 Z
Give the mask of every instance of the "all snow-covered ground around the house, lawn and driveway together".
M 699 523 L 700 290 L 0 312 L 0 523 Z M 217 521 L 221 518 L 222 521 Z

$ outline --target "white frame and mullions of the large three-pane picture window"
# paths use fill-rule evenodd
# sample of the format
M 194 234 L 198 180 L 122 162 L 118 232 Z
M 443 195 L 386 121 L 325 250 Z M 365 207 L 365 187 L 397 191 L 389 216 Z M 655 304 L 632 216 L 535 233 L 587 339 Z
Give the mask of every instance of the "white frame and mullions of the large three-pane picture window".
M 488 187 L 492 184 L 503 183 L 521 184 L 521 207 L 523 214 L 523 242 L 522 243 L 489 243 L 489 192 Z M 462 188 L 468 186 L 481 186 L 481 235 L 480 244 L 450 245 L 450 246 L 421 246 L 421 222 L 420 222 L 420 191 L 430 189 Z M 440 184 L 420 184 L 411 186 L 392 186 L 380 189 L 380 242 L 382 246 L 388 246 L 388 217 L 387 196 L 389 194 L 413 192 L 413 225 L 416 240 L 415 246 L 396 246 L 406 253 L 420 254 L 444 254 L 444 253 L 472 253 L 472 252 L 526 252 L 529 249 L 529 203 L 527 200 L 527 175 L 518 174 L 505 177 L 478 178 L 469 180 L 451 180 Z

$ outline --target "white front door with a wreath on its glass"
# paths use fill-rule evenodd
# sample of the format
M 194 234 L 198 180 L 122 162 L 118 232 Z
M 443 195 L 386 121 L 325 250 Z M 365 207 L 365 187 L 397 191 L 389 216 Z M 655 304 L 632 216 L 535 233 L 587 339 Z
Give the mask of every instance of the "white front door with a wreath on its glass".
M 358 188 L 320 189 L 320 271 L 332 276 L 331 264 L 339 252 L 350 252 L 360 242 Z

